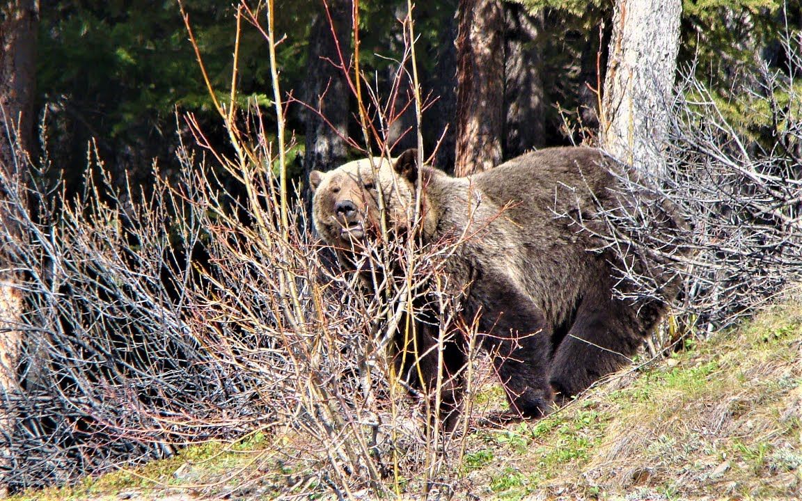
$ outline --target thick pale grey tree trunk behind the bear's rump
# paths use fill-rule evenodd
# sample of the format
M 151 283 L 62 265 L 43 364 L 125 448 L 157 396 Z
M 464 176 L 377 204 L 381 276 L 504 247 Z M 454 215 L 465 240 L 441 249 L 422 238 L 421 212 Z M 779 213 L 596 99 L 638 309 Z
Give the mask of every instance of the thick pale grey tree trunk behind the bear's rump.
M 602 145 L 661 175 L 679 48 L 680 0 L 618 0 L 602 101 Z

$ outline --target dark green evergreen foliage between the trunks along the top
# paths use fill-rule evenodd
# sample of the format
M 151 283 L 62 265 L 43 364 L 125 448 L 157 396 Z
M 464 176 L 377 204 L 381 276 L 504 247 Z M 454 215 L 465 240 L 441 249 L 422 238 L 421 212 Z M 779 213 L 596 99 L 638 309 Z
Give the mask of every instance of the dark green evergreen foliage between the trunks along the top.
M 543 36 L 533 43 L 543 60 L 547 144 L 582 140 L 594 123 L 588 113 L 594 106 L 592 92 L 601 81 L 597 73 L 606 67 L 606 42 L 612 4 L 557 2 L 557 0 L 508 0 L 530 12 L 544 14 Z M 723 111 L 753 139 L 759 139 L 764 115 L 751 109 L 748 90 L 758 82 L 753 75 L 761 64 L 783 71 L 780 33 L 783 11 L 790 22 L 799 22 L 799 5 L 782 0 L 687 0 L 683 4 L 683 43 L 679 67 L 692 68 L 708 81 L 721 100 Z M 254 4 L 255 6 L 256 4 Z M 444 26 L 453 18 L 454 2 L 422 2 L 415 5 L 415 32 L 419 71 L 424 95 L 435 87 L 436 58 L 444 43 Z M 398 65 L 396 46 L 406 2 L 360 2 L 360 65 L 373 75 L 380 89 L 389 86 L 391 68 Z M 234 6 L 211 0 L 188 2 L 201 55 L 213 86 L 229 91 L 234 44 Z M 322 12 L 322 2 L 286 2 L 277 11 L 277 46 L 282 86 L 302 96 L 309 53 L 311 20 Z M 262 14 L 263 15 L 263 14 Z M 191 111 L 223 146 L 211 101 L 188 43 L 180 8 L 172 0 L 144 8 L 138 2 L 54 2 L 42 4 L 38 61 L 38 95 L 47 109 L 49 149 L 58 157 L 59 170 L 67 178 L 79 177 L 86 160 L 86 145 L 94 139 L 104 160 L 122 179 L 124 174 L 147 184 L 152 159 L 174 164 L 175 111 Z M 791 26 L 793 27 L 793 26 Z M 395 45 L 394 45 L 395 44 Z M 238 103 L 256 104 L 267 110 L 272 90 L 269 83 L 266 42 L 261 33 L 245 24 L 240 45 Z M 598 56 L 598 57 L 597 57 Z M 738 101 L 738 102 L 736 102 Z M 290 107 L 288 127 L 303 144 L 303 115 Z M 429 113 L 432 113 L 430 111 Z M 265 113 L 262 119 L 273 119 Z M 426 115 L 424 115 L 424 119 Z M 448 122 L 448 119 L 446 120 Z M 565 124 L 569 127 L 565 127 Z M 268 129 L 273 123 L 265 123 Z M 354 121 L 353 127 L 357 126 Z M 578 126 L 572 129 L 572 126 Z M 185 129 L 179 123 L 180 129 Z M 577 135 L 576 130 L 585 134 Z M 424 131 L 433 143 L 439 131 Z M 219 137 L 218 137 L 219 136 Z M 302 147 L 294 152 L 302 155 Z

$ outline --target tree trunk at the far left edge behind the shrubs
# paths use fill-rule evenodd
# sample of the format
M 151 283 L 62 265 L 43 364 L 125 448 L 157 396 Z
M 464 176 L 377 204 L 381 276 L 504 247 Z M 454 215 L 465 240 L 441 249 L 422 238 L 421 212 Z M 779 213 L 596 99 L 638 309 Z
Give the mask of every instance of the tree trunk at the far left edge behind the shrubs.
M 9 397 L 19 390 L 17 363 L 22 349 L 22 293 L 14 269 L 13 248 L 18 236 L 13 211 L 24 210 L 26 154 L 34 147 L 34 84 L 38 1 L 14 0 L 2 3 L 0 19 L 0 434 L 3 442 L 13 426 Z M 9 443 L 0 442 L 0 468 L 8 467 Z M 0 487 L 0 497 L 6 486 Z

